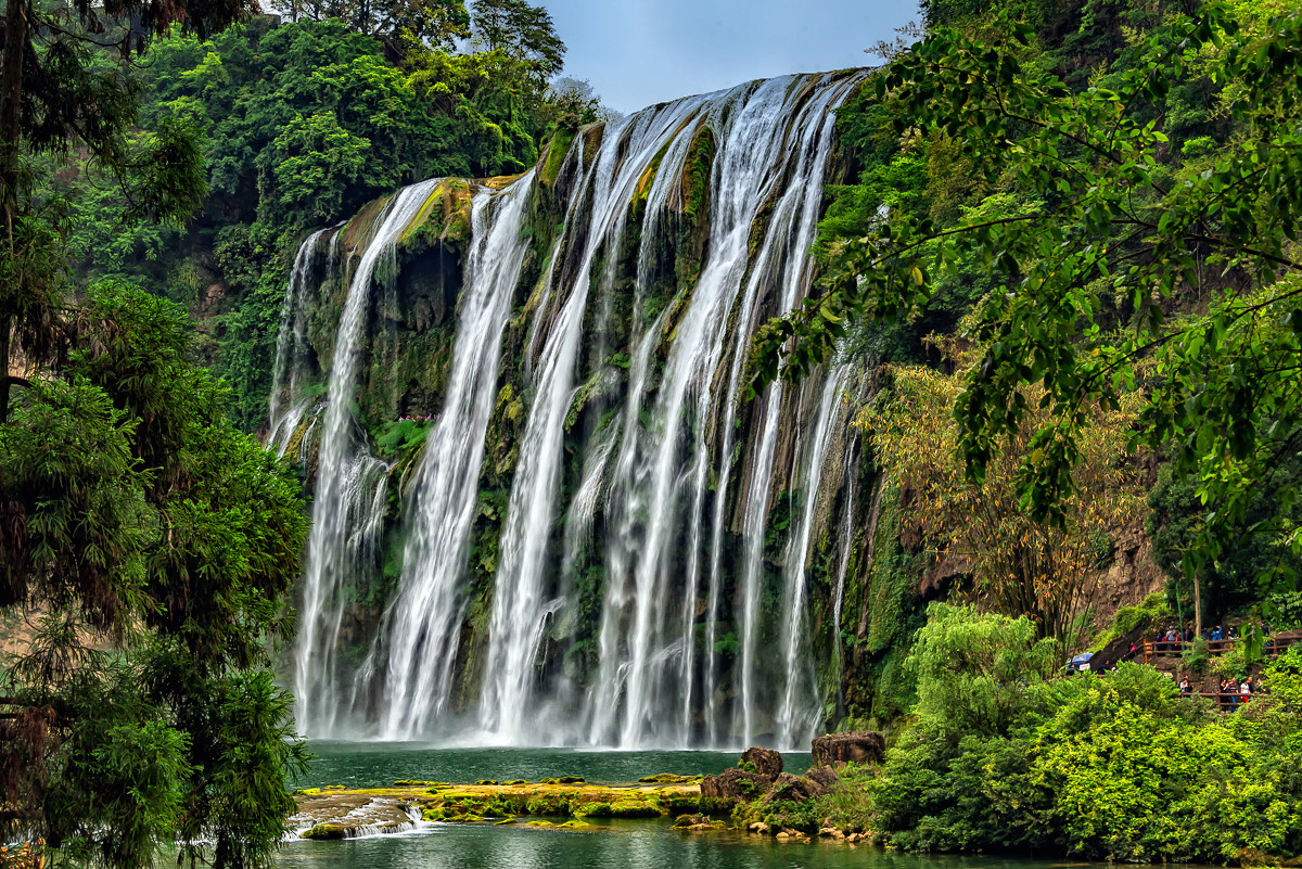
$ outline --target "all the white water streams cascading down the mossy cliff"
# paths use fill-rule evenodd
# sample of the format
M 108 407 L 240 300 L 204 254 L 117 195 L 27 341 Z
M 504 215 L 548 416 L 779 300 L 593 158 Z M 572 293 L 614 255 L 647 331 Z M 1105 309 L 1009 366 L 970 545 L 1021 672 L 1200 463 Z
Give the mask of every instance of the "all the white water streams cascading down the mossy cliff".
M 345 591 L 376 561 L 396 484 L 352 408 L 371 311 L 393 294 L 397 245 L 428 208 L 437 180 L 398 191 L 365 232 L 350 226 L 352 247 L 341 248 L 340 228 L 303 243 L 285 294 L 270 444 L 284 451 L 297 431 L 301 458 L 310 442 L 318 450 L 293 670 L 306 735 L 790 751 L 825 726 L 806 574 L 816 533 L 836 539 L 836 563 L 845 565 L 858 531 L 836 513 L 854 503 L 853 474 L 829 453 L 833 441 L 857 437 L 841 401 L 857 375 L 840 364 L 775 384 L 746 410 L 745 434 L 736 408 L 754 332 L 811 289 L 835 109 L 858 82 L 853 73 L 751 82 L 638 112 L 605 129 L 591 151 L 587 137 L 575 137 L 561 169 L 564 234 L 535 251 L 547 256 L 536 289 L 519 286 L 536 173 L 474 194 L 445 398 L 404 472 L 401 576 L 365 656 L 344 654 Z M 644 302 L 661 280 L 656 251 L 673 229 L 671 203 L 685 195 L 703 131 L 713 143 L 703 260 L 691 285 L 655 311 Z M 634 206 L 641 211 L 630 217 Z M 615 252 L 631 246 L 631 220 L 633 314 L 618 366 L 608 362 L 616 347 L 604 343 Z M 346 295 L 322 394 L 303 388 L 303 324 L 329 276 Z M 480 466 L 510 362 L 504 334 L 523 298 L 535 306 L 521 349 L 527 405 L 483 618 L 482 676 L 466 697 L 458 686 L 475 604 L 467 561 Z M 608 424 L 582 444 L 578 480 L 566 484 L 568 418 L 590 395 L 604 402 Z M 769 507 L 780 494 L 794 506 L 775 558 Z M 587 601 L 599 613 L 586 641 L 595 665 L 583 683 L 560 667 L 543 680 L 544 648 L 560 660 L 564 643 L 573 644 L 564 637 L 577 619 L 585 563 L 604 576 L 600 600 Z M 842 593 L 844 575 L 837 617 Z M 838 650 L 829 658 L 840 666 Z

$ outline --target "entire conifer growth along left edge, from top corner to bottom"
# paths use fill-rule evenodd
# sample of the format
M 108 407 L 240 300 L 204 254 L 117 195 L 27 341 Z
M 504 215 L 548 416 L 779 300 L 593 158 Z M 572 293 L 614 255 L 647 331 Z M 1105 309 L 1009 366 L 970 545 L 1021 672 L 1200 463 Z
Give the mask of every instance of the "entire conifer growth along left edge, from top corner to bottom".
M 65 202 L 48 183 L 76 152 L 129 221 L 189 217 L 199 131 L 184 112 L 134 127 L 130 57 L 255 9 L 7 5 L 0 608 L 31 643 L 0 683 L 0 834 L 36 831 L 70 861 L 152 865 L 172 842 L 194 860 L 211 842 L 216 865 L 268 865 L 284 774 L 303 760 L 264 645 L 288 627 L 297 483 L 227 419 L 184 310 L 121 284 L 65 301 Z

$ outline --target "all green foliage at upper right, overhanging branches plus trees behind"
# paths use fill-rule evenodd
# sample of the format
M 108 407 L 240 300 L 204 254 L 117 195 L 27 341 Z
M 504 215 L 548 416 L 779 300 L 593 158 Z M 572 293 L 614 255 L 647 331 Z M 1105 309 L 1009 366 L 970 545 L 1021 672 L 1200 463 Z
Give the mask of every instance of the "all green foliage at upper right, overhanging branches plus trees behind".
M 1138 392 L 1134 441 L 1193 494 L 1165 502 L 1184 526 L 1167 563 L 1212 571 L 1256 536 L 1294 553 L 1258 565 L 1293 588 L 1302 17 L 1267 3 L 1026 4 L 1023 21 L 932 5 L 931 23 L 952 27 L 841 113 L 866 168 L 823 224 L 829 291 L 769 327 L 758 375 L 779 373 L 792 337 L 783 364 L 798 372 L 857 321 L 905 337 L 957 327 L 980 355 L 953 403 L 969 477 L 1014 451 L 1022 507 L 1048 526 L 1066 519 L 1091 408 Z

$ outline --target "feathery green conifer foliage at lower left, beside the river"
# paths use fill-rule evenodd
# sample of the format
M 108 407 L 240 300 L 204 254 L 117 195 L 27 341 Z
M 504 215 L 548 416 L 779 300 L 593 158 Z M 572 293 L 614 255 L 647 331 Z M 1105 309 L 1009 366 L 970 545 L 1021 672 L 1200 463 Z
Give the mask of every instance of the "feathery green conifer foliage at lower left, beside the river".
M 190 366 L 193 334 L 180 306 L 99 285 L 0 425 L 0 605 L 39 613 L 0 696 L 0 823 L 73 860 L 152 865 L 176 839 L 270 865 L 303 760 L 264 645 L 302 501 Z

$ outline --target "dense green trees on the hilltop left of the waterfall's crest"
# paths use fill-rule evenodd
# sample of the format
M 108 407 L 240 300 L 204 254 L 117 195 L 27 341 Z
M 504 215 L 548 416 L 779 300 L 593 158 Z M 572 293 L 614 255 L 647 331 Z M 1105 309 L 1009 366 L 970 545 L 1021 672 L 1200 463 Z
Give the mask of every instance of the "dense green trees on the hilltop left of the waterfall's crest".
M 78 277 L 191 303 L 220 290 L 204 299 L 220 299 L 207 311 L 217 317 L 210 359 L 236 388 L 237 419 L 256 428 L 284 281 L 307 229 L 414 181 L 523 172 L 557 122 L 599 120 L 590 88 L 547 83 L 564 46 L 529 9 L 499 10 L 503 35 L 474 53 L 381 38 L 339 10 L 155 40 L 137 77 L 141 124 L 202 134 L 208 195 L 189 228 L 159 226 L 124 213 L 113 178 L 76 163 L 47 199 L 73 213 Z

